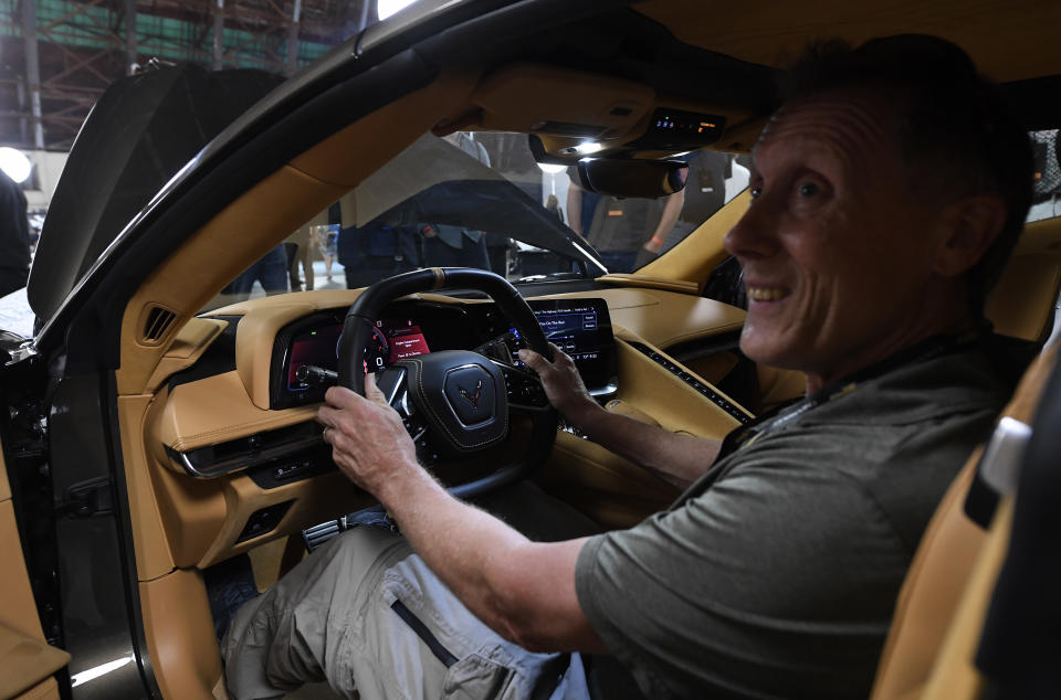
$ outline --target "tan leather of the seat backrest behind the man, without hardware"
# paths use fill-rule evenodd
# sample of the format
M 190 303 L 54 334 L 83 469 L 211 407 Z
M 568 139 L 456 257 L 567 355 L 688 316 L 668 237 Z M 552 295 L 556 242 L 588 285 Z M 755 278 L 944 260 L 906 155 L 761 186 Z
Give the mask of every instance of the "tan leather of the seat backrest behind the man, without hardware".
M 1054 346 L 1032 362 L 1001 415 L 1030 423 L 1057 358 Z M 980 452 L 966 463 L 925 530 L 900 591 L 872 700 L 975 697 L 960 689 L 977 683 L 971 658 L 1005 556 L 1011 506 L 999 507 L 990 533 L 966 517 L 965 497 Z M 944 657 L 967 662 L 942 662 Z

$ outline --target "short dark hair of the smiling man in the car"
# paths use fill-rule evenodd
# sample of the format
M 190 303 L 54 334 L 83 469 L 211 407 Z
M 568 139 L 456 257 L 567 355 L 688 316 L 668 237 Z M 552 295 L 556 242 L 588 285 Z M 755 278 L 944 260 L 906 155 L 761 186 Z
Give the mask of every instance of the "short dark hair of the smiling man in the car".
M 858 49 L 812 44 L 786 75 L 782 97 L 837 88 L 891 88 L 900 97 L 896 145 L 914 173 L 912 195 L 929 202 L 994 192 L 1008 208 L 1002 231 L 969 274 L 973 310 L 998 282 L 1031 205 L 1034 162 L 1027 130 L 1001 88 L 955 44 L 920 34 Z

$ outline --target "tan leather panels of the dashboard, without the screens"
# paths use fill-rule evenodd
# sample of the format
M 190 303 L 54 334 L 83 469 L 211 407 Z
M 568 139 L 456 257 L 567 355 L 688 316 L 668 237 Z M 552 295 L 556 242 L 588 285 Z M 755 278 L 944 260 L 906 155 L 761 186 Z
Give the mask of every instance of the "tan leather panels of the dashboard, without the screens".
M 176 453 L 223 445 L 270 431 L 312 423 L 316 406 L 269 410 L 269 363 L 276 333 L 287 324 L 328 308 L 343 308 L 357 291 L 329 290 L 266 297 L 213 311 L 210 316 L 240 316 L 235 331 L 235 370 L 174 386 L 156 374 L 160 386 L 150 400 L 144 422 L 148 471 L 157 516 L 141 527 L 160 523 L 156 538 L 168 554 L 156 551 L 140 559 L 141 580 L 162 575 L 168 568 L 207 566 L 267 539 L 300 530 L 349 512 L 371 500 L 344 476 L 332 473 L 311 479 L 262 488 L 246 474 L 197 479 L 186 473 Z M 675 291 L 652 288 L 607 288 L 586 295 L 607 300 L 618 346 L 619 393 L 624 410 L 634 411 L 672 431 L 721 436 L 736 421 L 713 406 L 695 389 L 653 362 L 629 342 L 654 351 L 691 339 L 726 333 L 739 328 L 744 312 L 725 305 Z M 420 295 L 431 303 L 476 304 L 439 295 Z M 161 368 L 186 369 L 220 336 L 224 321 L 196 319 L 181 329 Z M 146 397 L 145 397 L 146 399 Z M 618 404 L 617 404 L 618 405 Z M 168 449 L 167 449 L 168 448 Z M 598 494 L 601 520 L 627 522 L 644 509 L 665 502 L 673 488 L 645 475 L 599 446 L 561 435 L 554 454 L 556 475 L 575 478 Z M 611 475 L 611 476 L 608 476 Z M 622 475 L 622 476 L 617 476 Z M 601 482 L 611 486 L 605 486 Z M 627 484 L 626 487 L 622 485 Z M 570 485 L 568 485 L 570 486 Z M 568 490 L 565 486 L 565 490 Z M 618 488 L 618 498 L 605 495 Z M 603 489 L 603 490 L 601 490 Z M 143 495 L 144 491 L 141 491 Z M 592 499 L 590 499 L 592 500 Z M 286 503 L 286 506 L 285 506 Z M 248 523 L 263 509 L 281 507 L 275 527 L 248 537 Z

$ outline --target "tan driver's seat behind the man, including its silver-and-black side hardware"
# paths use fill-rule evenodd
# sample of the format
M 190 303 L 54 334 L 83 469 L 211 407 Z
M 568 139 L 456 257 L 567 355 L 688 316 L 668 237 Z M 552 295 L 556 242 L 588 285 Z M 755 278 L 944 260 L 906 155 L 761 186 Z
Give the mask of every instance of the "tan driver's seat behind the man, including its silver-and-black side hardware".
M 1048 378 L 1052 379 L 1044 392 Z M 1057 406 L 1055 412 L 1061 410 L 1058 346 L 1043 351 L 1025 373 L 1001 414 L 991 443 L 986 450 L 977 450 L 969 458 L 929 522 L 900 592 L 872 700 L 1036 697 L 999 690 L 1012 688 L 1011 683 L 1016 682 L 1011 672 L 1012 648 L 1004 647 L 1000 653 L 999 639 L 992 637 L 1002 634 L 1005 639 L 1012 639 L 1011 627 L 1017 622 L 1008 612 L 1013 609 L 1012 581 L 1008 586 L 1009 603 L 1000 597 L 992 604 L 991 598 L 1007 554 L 1016 551 L 1010 543 L 1015 500 L 1011 492 L 1005 491 L 1016 484 L 1017 468 L 1022 464 L 1019 453 L 1027 441 L 1020 435 L 1032 435 L 1029 453 L 1037 441 L 1055 441 L 1058 435 L 1055 426 L 1042 429 L 1037 425 L 1031 432 L 1020 425 L 1031 425 L 1033 416 L 1042 415 L 1048 406 Z M 986 454 L 983 459 L 981 453 Z M 983 490 L 981 479 L 1004 491 L 997 508 L 990 507 L 994 502 L 988 503 L 987 510 L 994 510 L 994 517 L 986 531 L 970 517 L 984 510 L 976 498 L 978 490 Z M 1023 505 L 1025 501 L 1016 503 L 1017 521 L 1021 521 Z M 1012 534 L 1016 537 L 1018 532 Z M 1009 577 L 1023 575 L 1018 568 Z M 1019 596 L 1019 584 L 1017 591 Z M 980 649 L 989 605 L 994 605 L 991 618 Z M 990 669 L 995 676 L 985 675 L 977 666 L 978 660 L 980 667 Z M 1027 675 L 1018 676 L 1027 679 Z

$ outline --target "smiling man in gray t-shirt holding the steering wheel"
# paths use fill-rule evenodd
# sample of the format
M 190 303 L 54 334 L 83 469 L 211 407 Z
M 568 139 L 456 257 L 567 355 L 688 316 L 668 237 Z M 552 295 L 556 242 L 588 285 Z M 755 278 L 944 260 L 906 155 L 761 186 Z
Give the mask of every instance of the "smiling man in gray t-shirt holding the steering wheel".
M 323 678 L 363 698 L 599 697 L 596 657 L 570 651 L 613 655 L 651 698 L 868 694 L 922 531 L 1009 391 L 983 306 L 1032 160 L 946 42 L 826 46 L 794 74 L 725 245 L 742 350 L 805 372 L 806 399 L 719 443 L 610 413 L 566 356 L 521 352 L 591 439 L 689 485 L 629 530 L 543 542 L 449 496 L 371 383 L 329 390 L 335 462 L 401 534 L 355 528 L 246 604 L 223 645 L 237 697 Z

